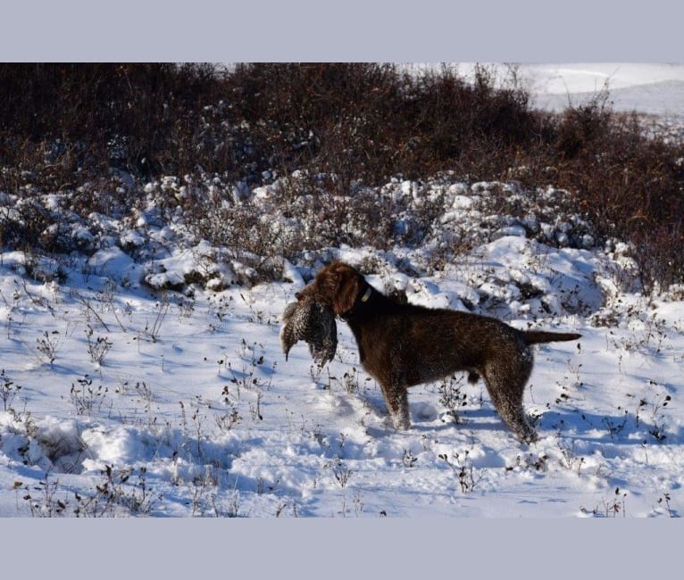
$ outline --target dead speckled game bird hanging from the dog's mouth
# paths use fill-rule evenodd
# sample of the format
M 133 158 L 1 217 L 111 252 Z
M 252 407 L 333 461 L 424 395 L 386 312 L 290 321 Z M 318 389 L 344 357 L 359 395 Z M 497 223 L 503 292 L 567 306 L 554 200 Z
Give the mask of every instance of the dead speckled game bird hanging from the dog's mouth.
M 333 312 L 312 300 L 289 303 L 283 311 L 280 328 L 285 360 L 299 340 L 309 345 L 309 352 L 320 367 L 332 360 L 338 348 L 338 326 Z

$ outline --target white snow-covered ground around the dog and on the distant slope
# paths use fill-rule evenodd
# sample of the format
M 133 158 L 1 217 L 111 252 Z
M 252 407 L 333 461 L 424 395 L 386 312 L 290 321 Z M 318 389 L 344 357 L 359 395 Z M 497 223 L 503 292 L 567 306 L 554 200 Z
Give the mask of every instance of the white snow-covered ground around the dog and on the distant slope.
M 646 112 L 684 79 L 669 65 L 523 71 L 563 98 L 607 75 Z M 680 114 L 681 93 L 666 95 L 657 112 Z M 684 290 L 638 294 L 629 247 L 596 247 L 581 222 L 493 213 L 501 187 L 388 184 L 388 199 L 443 195 L 425 248 L 329 248 L 272 283 L 193 239 L 154 186 L 135 223 L 91 216 L 108 243 L 90 257 L 0 254 L 0 516 L 680 516 Z M 431 269 L 456 231 L 478 243 Z M 412 302 L 580 332 L 537 350 L 525 405 L 538 442 L 518 443 L 460 376 L 413 387 L 413 427 L 396 432 L 344 323 L 323 369 L 304 344 L 286 361 L 279 315 L 333 257 Z

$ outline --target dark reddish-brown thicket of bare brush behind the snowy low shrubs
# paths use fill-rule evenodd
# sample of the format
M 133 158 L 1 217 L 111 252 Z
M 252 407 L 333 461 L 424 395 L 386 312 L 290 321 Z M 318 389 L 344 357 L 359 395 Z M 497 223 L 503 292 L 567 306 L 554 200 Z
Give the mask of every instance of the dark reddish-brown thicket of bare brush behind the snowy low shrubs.
M 539 112 L 514 70 L 496 79 L 480 68 L 470 82 L 449 67 L 416 74 L 372 63 L 0 64 L 0 104 L 0 193 L 22 202 L 18 218 L 0 220 L 5 247 L 37 244 L 49 227 L 31 202 L 39 194 L 73 192 L 85 215 L 117 195 L 130 203 L 164 175 L 215 175 L 235 204 L 235 184 L 305 170 L 312 189 L 354 213 L 359 184 L 448 170 L 532 193 L 563 187 L 598 240 L 634 245 L 646 286 L 684 281 L 681 141 L 648 134 L 606 94 Z M 121 187 L 112 169 L 133 185 Z

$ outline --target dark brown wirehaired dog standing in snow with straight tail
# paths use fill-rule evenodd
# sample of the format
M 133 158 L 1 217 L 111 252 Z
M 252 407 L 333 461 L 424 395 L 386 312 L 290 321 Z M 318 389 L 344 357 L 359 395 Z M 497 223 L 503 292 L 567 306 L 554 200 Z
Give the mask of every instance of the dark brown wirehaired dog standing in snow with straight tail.
M 522 409 L 534 364 L 530 344 L 569 341 L 576 333 L 518 330 L 500 320 L 399 303 L 380 294 L 353 267 L 334 261 L 296 294 L 346 321 L 363 368 L 380 384 L 397 429 L 411 427 L 408 387 L 467 371 L 485 381 L 496 410 L 521 442 L 537 439 Z

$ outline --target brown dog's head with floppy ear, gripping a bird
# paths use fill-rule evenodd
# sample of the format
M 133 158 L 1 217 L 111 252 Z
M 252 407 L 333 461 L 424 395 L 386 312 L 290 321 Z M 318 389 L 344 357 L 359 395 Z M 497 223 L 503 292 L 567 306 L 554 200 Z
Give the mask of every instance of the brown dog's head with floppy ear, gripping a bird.
M 321 269 L 309 286 L 296 293 L 296 299 L 319 302 L 336 316 L 342 316 L 354 308 L 365 286 L 363 276 L 349 264 L 333 261 Z

